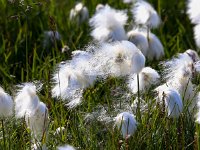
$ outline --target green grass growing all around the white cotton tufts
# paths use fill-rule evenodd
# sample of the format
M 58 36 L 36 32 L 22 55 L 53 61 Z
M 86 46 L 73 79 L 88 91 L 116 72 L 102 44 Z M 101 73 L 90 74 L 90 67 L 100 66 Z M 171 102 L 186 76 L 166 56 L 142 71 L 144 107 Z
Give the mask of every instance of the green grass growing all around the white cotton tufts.
M 89 8 L 90 16 L 95 12 L 98 3 L 107 2 L 118 9 L 129 8 L 120 0 L 83 2 Z M 184 1 L 150 2 L 163 21 L 161 27 L 153 31 L 165 48 L 166 56 L 163 60 L 186 49 L 196 49 Z M 119 140 L 123 139 L 117 129 L 97 118 L 89 122 L 84 118 L 99 105 L 105 107 L 110 116 L 116 116 L 113 114 L 113 104 L 120 103 L 123 99 L 120 94 L 113 96 L 113 91 L 117 87 L 121 91 L 127 90 L 123 79 L 108 78 L 97 82 L 84 92 L 83 104 L 73 110 L 69 110 L 64 102 L 51 97 L 51 78 L 57 63 L 70 59 L 71 51 L 83 49 L 92 40 L 87 23 L 78 26 L 70 22 L 69 12 L 74 5 L 75 1 L 71 0 L 39 3 L 25 0 L 22 6 L 18 0 L 14 3 L 0 0 L 0 85 L 13 94 L 16 92 L 16 84 L 35 80 L 44 84 L 39 97 L 49 108 L 47 147 L 50 150 L 65 144 L 83 150 L 119 149 Z M 29 10 L 27 6 L 30 6 Z M 126 28 L 129 26 L 128 24 Z M 43 48 L 43 32 L 52 29 L 61 34 L 60 44 L 68 45 L 69 51 L 61 53 L 59 43 L 49 49 Z M 147 62 L 146 66 L 160 69 L 157 64 L 155 61 Z M 178 119 L 169 119 L 158 106 L 153 107 L 155 100 L 152 94 L 146 93 L 142 96 L 148 102 L 149 109 L 142 114 L 136 133 L 127 142 L 123 140 L 121 149 L 200 149 L 200 126 L 195 124 L 192 117 L 183 113 Z M 134 100 L 135 96 L 131 98 Z M 6 147 L 3 132 L 0 132 L 0 149 L 30 149 L 30 130 L 27 129 L 24 119 L 8 118 L 4 125 Z M 66 128 L 64 132 L 54 135 L 56 128 L 62 126 Z

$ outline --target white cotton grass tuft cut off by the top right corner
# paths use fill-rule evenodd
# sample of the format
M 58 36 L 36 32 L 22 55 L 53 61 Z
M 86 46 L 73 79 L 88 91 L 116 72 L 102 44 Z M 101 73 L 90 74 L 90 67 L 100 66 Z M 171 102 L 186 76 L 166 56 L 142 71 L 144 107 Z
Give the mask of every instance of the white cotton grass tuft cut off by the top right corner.
M 192 23 L 200 23 L 200 5 L 199 0 L 188 0 L 187 13 Z

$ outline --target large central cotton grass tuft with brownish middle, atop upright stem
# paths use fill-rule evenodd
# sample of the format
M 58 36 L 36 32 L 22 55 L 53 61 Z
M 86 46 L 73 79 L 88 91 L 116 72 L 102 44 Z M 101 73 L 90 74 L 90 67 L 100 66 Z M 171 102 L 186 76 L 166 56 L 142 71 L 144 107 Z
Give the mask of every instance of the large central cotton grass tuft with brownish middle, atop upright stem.
M 133 43 L 121 41 L 103 44 L 95 52 L 91 63 L 100 76 L 118 77 L 140 72 L 145 65 L 145 57 Z

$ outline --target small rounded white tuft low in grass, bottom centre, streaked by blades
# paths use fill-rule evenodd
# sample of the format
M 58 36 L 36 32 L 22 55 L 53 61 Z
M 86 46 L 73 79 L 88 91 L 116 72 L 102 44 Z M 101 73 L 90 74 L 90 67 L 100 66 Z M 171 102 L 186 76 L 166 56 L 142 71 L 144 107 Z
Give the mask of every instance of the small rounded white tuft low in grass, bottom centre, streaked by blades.
M 129 112 L 123 112 L 115 117 L 115 126 L 121 130 L 123 138 L 127 138 L 134 134 L 137 128 L 135 116 Z

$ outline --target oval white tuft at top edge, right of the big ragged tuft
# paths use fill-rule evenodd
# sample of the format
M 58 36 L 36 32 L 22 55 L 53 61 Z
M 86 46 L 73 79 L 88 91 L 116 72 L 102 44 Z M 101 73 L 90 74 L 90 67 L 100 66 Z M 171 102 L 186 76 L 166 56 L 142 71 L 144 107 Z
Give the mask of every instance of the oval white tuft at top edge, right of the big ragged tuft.
M 146 1 L 138 1 L 132 9 L 132 14 L 137 24 L 156 28 L 160 24 L 160 17 L 155 9 Z

